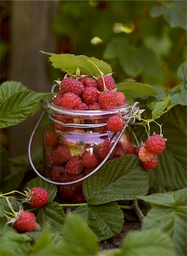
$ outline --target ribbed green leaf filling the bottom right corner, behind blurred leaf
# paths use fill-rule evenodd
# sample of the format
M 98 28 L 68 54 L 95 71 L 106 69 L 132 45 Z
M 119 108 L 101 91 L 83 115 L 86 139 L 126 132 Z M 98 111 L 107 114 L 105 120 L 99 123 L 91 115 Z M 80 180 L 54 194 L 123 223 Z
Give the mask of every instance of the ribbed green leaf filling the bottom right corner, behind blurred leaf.
M 187 209 L 182 207 L 154 207 L 143 220 L 143 229 L 153 226 L 167 233 L 173 241 L 177 255 L 186 255 L 186 216 Z

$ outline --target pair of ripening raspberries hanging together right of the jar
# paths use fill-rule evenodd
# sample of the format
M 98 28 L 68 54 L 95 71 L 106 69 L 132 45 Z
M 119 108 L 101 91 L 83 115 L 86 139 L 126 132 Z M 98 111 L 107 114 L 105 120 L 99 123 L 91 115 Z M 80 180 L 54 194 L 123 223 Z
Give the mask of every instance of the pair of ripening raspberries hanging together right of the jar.
M 137 148 L 135 154 L 141 160 L 141 164 L 145 170 L 153 169 L 158 164 L 158 156 L 165 149 L 165 141 L 167 139 L 163 138 L 163 135 L 153 133 L 146 140 L 146 143 L 142 143 L 140 147 Z

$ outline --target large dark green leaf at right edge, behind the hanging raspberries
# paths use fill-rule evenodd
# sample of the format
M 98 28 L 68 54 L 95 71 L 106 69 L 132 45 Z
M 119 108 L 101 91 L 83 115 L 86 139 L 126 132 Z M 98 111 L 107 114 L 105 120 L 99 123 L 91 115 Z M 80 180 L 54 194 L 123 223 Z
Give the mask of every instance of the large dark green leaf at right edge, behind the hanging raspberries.
M 163 123 L 165 151 L 158 166 L 149 171 L 154 192 L 175 191 L 186 187 L 186 108 L 175 106 L 160 119 Z

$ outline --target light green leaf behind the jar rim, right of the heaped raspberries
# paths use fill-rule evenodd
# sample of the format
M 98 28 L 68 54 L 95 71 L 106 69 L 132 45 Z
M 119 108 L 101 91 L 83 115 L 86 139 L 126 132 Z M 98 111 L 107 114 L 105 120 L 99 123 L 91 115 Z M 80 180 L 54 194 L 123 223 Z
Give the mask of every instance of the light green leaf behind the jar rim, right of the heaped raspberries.
M 140 82 L 120 82 L 117 84 L 117 90 L 123 92 L 125 96 L 134 99 L 157 94 L 156 90 L 152 88 L 151 85 L 141 84 Z

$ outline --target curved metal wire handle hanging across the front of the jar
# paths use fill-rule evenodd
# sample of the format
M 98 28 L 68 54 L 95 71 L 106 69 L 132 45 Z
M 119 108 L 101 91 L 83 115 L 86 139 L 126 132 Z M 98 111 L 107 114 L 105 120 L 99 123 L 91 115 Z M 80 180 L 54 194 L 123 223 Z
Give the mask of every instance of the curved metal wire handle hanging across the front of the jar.
M 52 87 L 52 92 L 54 90 L 56 86 L 53 85 Z M 37 121 L 36 126 L 31 134 L 31 138 L 29 139 L 29 144 L 28 144 L 28 158 L 29 158 L 29 162 L 33 168 L 33 170 L 35 171 L 35 173 L 41 177 L 42 180 L 45 180 L 46 182 L 49 182 L 51 184 L 55 184 L 55 185 L 71 185 L 71 184 L 75 184 L 78 183 L 79 181 L 83 181 L 85 179 L 87 179 L 87 177 L 90 177 L 92 174 L 94 174 L 97 170 L 99 170 L 99 168 L 101 166 L 103 166 L 103 164 L 108 160 L 109 156 L 112 154 L 112 151 L 114 150 L 114 147 L 116 147 L 116 144 L 118 143 L 118 141 L 120 140 L 122 134 L 125 132 L 126 127 L 128 126 L 128 124 L 133 125 L 133 123 L 135 122 L 135 114 L 138 113 L 139 110 L 139 102 L 135 102 L 133 106 L 131 106 L 131 111 L 126 114 L 125 116 L 128 117 L 128 120 L 125 122 L 125 126 L 124 128 L 120 131 L 120 134 L 118 135 L 116 141 L 114 142 L 113 146 L 111 147 L 111 150 L 109 150 L 107 156 L 104 158 L 104 160 L 99 164 L 99 166 L 97 166 L 92 172 L 90 172 L 90 174 L 87 174 L 86 176 L 78 179 L 78 180 L 74 180 L 74 181 L 69 181 L 69 182 L 57 182 L 57 181 L 52 181 L 44 176 L 42 176 L 40 174 L 39 171 L 37 171 L 37 169 L 35 168 L 35 165 L 32 162 L 32 156 L 31 156 L 31 146 L 32 146 L 32 139 L 33 136 L 35 135 L 36 129 L 39 126 L 41 119 L 43 118 L 45 112 L 43 112 L 39 118 L 39 121 Z

